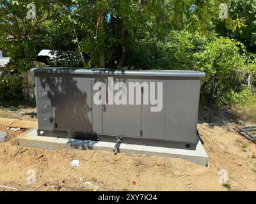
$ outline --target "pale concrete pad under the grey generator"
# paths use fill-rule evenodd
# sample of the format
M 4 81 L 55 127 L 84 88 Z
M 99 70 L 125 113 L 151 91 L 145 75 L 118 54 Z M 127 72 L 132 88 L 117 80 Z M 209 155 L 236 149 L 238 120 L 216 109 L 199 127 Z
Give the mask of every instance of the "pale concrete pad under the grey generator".
M 55 138 L 49 136 L 38 136 L 37 128 L 31 129 L 24 135 L 17 138 L 19 145 L 24 147 L 33 147 L 39 149 L 99 149 L 99 150 L 113 150 L 115 143 L 113 142 L 98 142 L 90 140 L 76 140 L 68 138 Z M 173 149 L 166 147 L 153 147 L 146 145 L 132 145 L 121 143 L 119 147 L 120 152 L 126 154 L 145 154 L 147 156 L 165 156 L 175 157 L 191 161 L 202 166 L 207 166 L 208 156 L 204 150 L 202 143 L 198 138 L 196 150 Z

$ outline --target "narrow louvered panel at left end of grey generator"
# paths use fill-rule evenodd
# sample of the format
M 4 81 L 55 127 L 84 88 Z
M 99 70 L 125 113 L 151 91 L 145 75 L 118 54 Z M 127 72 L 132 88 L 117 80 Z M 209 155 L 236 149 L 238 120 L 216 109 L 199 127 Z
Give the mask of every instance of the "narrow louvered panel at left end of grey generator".
M 47 74 L 36 73 L 35 85 L 38 129 L 53 131 L 55 121 L 54 80 Z

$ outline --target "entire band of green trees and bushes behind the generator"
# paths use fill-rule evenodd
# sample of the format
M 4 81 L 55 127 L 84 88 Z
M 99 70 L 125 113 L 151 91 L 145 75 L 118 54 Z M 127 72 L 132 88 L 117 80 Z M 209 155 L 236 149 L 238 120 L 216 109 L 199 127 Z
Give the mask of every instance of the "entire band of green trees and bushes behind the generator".
M 9 70 L 26 71 L 51 49 L 59 66 L 204 71 L 201 98 L 211 105 L 255 98 L 255 0 L 35 0 L 36 19 L 26 17 L 28 3 L 0 0 Z

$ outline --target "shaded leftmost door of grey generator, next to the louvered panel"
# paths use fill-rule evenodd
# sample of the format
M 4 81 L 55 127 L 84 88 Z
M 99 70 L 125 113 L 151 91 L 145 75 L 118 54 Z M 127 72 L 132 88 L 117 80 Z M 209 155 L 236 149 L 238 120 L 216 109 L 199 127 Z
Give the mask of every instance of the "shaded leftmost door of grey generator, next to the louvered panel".
M 55 77 L 56 131 L 92 133 L 92 78 Z

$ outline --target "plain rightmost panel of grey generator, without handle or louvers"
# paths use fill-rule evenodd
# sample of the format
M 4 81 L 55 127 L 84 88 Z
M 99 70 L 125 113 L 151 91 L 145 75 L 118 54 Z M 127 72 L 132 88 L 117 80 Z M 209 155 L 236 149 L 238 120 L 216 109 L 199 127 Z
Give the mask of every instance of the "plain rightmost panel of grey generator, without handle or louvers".
M 196 143 L 199 98 L 199 78 L 168 80 L 164 140 Z

